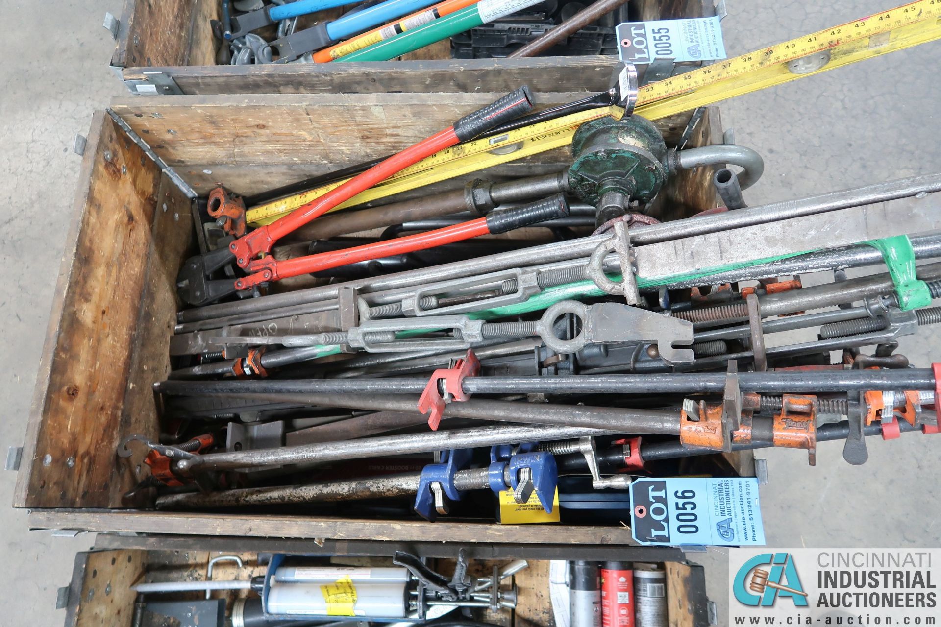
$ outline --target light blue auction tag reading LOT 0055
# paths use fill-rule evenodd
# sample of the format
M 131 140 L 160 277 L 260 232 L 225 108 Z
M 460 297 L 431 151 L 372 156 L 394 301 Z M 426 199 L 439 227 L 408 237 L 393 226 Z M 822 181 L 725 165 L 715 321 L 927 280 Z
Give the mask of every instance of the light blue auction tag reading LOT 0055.
M 650 63 L 656 58 L 676 62 L 726 58 L 719 16 L 684 20 L 626 22 L 615 30 L 618 55 L 625 63 Z

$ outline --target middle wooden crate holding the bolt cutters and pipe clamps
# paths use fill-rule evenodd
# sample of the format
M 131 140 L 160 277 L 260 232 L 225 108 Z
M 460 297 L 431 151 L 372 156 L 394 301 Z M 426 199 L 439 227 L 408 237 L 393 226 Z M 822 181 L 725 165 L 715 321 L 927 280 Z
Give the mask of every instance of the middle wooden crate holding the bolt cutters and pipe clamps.
M 15 505 L 32 509 L 30 524 L 337 541 L 564 538 L 630 544 L 624 525 L 428 524 L 121 509 L 121 494 L 147 467 L 139 457 L 118 458 L 115 450 L 132 433 L 157 436 L 152 384 L 169 371 L 175 279 L 183 259 L 195 252 L 192 200 L 174 180 L 199 194 L 216 184 L 258 192 L 403 149 L 496 96 L 454 94 L 446 102 L 435 94 L 125 97 L 95 114 L 16 488 Z M 686 133 L 689 147 L 721 141 L 716 109 L 697 119 Z M 683 127 L 673 123 L 663 128 L 675 137 Z M 500 172 L 559 171 L 569 160 L 559 149 L 504 165 Z M 709 178 L 708 171 L 682 172 L 662 196 L 680 213 L 713 207 Z M 750 454 L 714 457 L 739 474 L 752 474 Z

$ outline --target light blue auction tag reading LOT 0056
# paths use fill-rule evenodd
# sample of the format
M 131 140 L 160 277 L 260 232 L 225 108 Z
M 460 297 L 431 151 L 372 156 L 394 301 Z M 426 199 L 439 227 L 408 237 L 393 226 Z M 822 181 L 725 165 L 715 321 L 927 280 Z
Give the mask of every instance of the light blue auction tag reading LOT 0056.
M 758 479 L 635 479 L 630 532 L 641 544 L 764 544 Z

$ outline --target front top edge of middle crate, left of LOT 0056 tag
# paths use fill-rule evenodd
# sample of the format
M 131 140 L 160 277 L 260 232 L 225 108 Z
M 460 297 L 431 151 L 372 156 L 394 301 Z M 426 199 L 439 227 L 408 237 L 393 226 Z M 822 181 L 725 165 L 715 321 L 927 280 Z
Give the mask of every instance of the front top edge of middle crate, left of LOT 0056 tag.
M 172 511 L 34 509 L 29 525 L 40 529 L 83 529 L 199 536 L 255 536 L 377 541 L 525 542 L 635 544 L 624 526 L 487 525 L 482 523 L 377 521 L 349 518 Z

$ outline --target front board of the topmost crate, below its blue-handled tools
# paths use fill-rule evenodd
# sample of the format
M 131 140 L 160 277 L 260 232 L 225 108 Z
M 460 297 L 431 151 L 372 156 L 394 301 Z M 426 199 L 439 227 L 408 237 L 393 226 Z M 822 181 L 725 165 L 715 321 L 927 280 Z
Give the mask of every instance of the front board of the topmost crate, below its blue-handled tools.
M 413 53 L 414 54 L 414 53 Z M 155 68 L 173 76 L 184 94 L 505 93 L 528 85 L 534 93 L 582 94 L 608 88 L 614 56 L 533 59 L 439 59 L 366 63 L 286 63 Z M 142 68 L 125 78 L 140 78 Z

